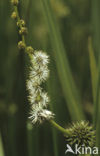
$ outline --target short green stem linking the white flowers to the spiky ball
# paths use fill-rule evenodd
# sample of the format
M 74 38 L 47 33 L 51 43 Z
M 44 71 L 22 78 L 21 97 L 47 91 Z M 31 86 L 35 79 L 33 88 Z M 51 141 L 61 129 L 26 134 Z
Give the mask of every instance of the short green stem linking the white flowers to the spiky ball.
M 53 127 L 55 127 L 56 129 L 58 129 L 60 132 L 66 134 L 66 135 L 70 135 L 69 131 L 66 130 L 65 128 L 61 127 L 59 124 L 57 124 L 54 120 L 50 120 L 49 121 L 51 123 L 51 125 Z

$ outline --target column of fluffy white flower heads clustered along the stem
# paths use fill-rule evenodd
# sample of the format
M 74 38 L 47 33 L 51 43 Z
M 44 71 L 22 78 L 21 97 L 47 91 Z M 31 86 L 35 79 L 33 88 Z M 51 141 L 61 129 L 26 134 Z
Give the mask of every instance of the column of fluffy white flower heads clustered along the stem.
M 54 114 L 47 110 L 49 97 L 40 87 L 41 83 L 47 80 L 49 57 L 42 51 L 35 51 L 31 55 L 31 67 L 29 79 L 27 80 L 27 89 L 29 91 L 29 102 L 31 103 L 32 123 L 42 123 L 44 120 L 50 120 Z

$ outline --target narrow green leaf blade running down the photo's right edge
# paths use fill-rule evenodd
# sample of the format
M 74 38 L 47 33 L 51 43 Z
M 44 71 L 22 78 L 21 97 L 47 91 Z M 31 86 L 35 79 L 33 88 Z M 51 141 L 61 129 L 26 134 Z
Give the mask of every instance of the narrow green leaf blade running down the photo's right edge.
M 94 101 L 94 127 L 96 128 L 96 146 L 100 148 L 100 1 L 92 0 L 93 46 L 98 60 L 96 97 Z

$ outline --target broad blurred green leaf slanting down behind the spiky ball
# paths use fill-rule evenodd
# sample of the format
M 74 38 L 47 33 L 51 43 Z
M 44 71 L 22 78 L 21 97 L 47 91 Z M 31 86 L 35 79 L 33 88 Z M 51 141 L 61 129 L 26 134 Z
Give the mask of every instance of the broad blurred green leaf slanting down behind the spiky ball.
M 41 2 L 43 5 L 44 15 L 47 21 L 49 36 L 51 38 L 51 44 L 53 48 L 52 55 L 56 62 L 57 72 L 67 103 L 67 108 L 73 120 L 84 119 L 80 96 L 73 80 L 68 57 L 66 55 L 58 23 L 56 22 L 56 19 L 54 17 L 50 1 L 41 0 Z

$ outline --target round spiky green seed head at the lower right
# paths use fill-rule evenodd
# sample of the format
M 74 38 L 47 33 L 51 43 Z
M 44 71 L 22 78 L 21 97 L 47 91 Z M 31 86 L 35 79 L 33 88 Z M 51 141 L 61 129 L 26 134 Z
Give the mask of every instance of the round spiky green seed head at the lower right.
M 67 128 L 69 136 L 66 136 L 66 141 L 70 145 L 78 144 L 92 147 L 95 143 L 95 131 L 89 125 L 89 122 L 81 121 L 73 123 Z

